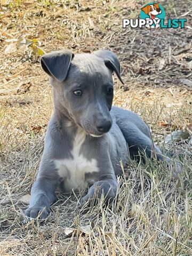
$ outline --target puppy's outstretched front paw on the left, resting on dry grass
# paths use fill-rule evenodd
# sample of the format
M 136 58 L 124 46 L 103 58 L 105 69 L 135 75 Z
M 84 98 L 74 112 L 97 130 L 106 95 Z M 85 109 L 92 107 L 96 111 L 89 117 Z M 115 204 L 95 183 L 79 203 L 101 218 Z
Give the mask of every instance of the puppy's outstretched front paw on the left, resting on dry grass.
M 49 215 L 49 209 L 46 206 L 32 206 L 25 210 L 25 214 L 31 219 L 36 219 L 38 217 L 43 220 Z

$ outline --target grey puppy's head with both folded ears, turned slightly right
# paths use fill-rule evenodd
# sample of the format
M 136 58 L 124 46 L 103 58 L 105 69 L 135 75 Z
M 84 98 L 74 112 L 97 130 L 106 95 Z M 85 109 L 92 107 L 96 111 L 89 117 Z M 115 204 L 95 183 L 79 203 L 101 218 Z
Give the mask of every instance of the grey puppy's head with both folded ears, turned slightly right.
M 60 113 L 93 137 L 110 130 L 114 71 L 123 83 L 113 52 L 74 54 L 63 50 L 43 55 L 41 64 L 51 77 L 55 108 Z

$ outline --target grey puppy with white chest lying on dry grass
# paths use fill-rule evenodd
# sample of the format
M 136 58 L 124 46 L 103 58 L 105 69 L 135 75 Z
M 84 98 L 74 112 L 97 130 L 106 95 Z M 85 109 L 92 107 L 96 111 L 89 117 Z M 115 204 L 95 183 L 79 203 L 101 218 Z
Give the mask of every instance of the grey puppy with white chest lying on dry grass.
M 109 200 L 115 197 L 116 177 L 122 174 L 120 159 L 125 165 L 140 150 L 148 157 L 153 150 L 158 160 L 163 157 L 137 114 L 111 107 L 114 71 L 123 83 L 113 52 L 55 51 L 45 54 L 41 65 L 50 76 L 54 113 L 25 214 L 36 218 L 41 213 L 44 219 L 58 186 L 65 192 L 89 187 L 82 204 L 91 201 L 96 190 L 98 197 L 103 193 Z

